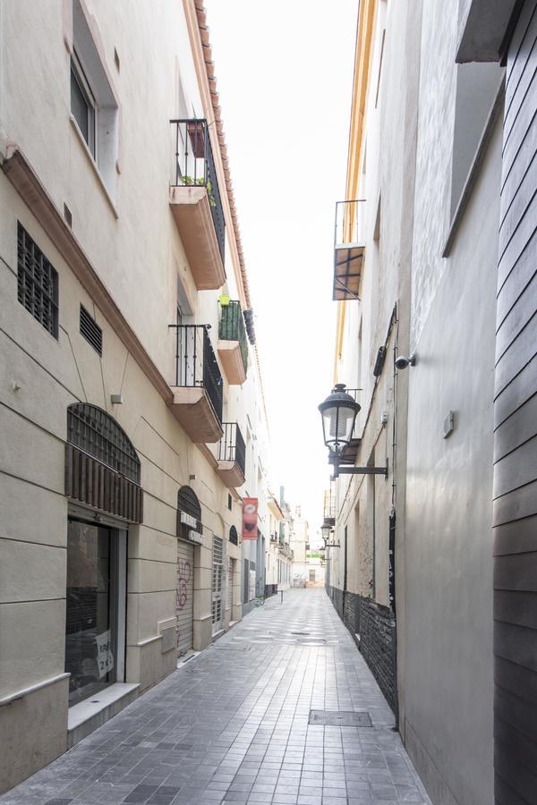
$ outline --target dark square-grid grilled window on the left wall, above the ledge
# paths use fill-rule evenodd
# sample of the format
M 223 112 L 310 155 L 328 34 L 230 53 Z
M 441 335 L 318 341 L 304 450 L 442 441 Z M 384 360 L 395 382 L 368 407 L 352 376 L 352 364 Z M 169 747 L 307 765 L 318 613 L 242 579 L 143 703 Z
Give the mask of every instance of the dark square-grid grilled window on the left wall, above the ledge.
M 21 305 L 58 337 L 58 274 L 24 227 L 17 225 L 17 295 Z

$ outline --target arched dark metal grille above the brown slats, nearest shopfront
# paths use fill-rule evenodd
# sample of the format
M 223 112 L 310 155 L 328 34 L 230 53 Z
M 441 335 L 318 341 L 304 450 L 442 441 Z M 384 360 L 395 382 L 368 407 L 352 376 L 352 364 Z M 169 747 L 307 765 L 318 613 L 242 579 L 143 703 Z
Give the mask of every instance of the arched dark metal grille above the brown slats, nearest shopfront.
M 140 483 L 140 459 L 131 440 L 115 419 L 88 402 L 75 402 L 67 409 L 67 441 L 99 462 Z

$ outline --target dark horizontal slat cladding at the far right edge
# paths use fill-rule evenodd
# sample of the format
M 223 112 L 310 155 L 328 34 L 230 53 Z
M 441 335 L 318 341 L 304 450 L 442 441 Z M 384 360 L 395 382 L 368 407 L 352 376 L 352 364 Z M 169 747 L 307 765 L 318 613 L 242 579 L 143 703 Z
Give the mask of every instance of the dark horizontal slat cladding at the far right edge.
M 537 805 L 537 0 L 509 45 L 494 439 L 495 799 Z

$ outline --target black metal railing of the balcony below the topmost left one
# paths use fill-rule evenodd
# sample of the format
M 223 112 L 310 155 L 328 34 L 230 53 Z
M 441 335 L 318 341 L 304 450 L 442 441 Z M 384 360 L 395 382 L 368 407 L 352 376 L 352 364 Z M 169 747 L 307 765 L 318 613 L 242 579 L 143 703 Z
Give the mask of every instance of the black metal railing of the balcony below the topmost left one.
M 170 325 L 175 328 L 175 386 L 201 387 L 222 422 L 223 383 L 209 325 Z

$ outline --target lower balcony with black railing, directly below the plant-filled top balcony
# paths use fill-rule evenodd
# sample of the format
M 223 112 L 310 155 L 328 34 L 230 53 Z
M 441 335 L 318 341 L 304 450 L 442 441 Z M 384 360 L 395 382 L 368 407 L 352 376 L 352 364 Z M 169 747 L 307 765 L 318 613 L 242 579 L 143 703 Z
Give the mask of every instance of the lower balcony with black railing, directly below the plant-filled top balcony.
M 214 444 L 222 429 L 222 375 L 209 339 L 208 325 L 171 325 L 175 329 L 175 419 L 192 442 Z

